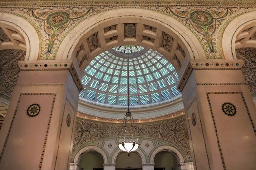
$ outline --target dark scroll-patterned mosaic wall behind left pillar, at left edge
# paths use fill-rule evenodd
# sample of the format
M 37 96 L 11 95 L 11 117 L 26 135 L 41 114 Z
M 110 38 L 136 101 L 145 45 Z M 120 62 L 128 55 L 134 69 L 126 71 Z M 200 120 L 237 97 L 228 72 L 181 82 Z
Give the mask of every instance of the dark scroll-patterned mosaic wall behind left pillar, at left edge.
M 18 61 L 25 55 L 22 50 L 0 50 L 0 96 L 11 98 L 20 73 Z

